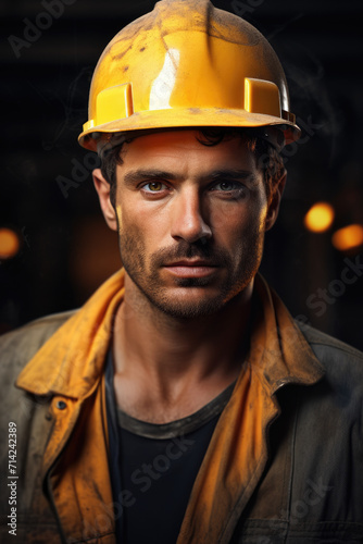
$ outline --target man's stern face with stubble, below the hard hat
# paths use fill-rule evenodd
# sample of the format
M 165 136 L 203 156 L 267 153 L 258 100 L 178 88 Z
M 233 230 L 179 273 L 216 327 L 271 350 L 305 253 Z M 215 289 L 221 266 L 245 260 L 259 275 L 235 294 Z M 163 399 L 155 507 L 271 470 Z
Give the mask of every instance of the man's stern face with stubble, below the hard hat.
M 208 147 L 198 137 L 138 137 L 116 169 L 126 286 L 177 318 L 214 313 L 251 285 L 266 228 L 263 176 L 246 143 Z

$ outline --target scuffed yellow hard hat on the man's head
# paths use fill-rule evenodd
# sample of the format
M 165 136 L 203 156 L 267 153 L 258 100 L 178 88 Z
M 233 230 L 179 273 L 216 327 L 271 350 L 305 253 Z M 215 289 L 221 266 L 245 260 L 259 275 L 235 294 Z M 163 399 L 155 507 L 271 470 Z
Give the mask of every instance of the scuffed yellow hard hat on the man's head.
M 279 147 L 300 136 L 259 30 L 209 0 L 161 0 L 104 49 L 78 140 L 96 151 L 112 133 L 202 126 L 265 127 Z

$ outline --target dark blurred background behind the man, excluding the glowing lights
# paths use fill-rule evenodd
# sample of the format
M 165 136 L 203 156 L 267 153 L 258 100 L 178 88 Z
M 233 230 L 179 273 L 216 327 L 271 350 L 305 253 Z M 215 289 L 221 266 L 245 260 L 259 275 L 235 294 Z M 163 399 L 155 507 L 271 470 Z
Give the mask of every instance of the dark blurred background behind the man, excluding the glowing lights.
M 0 261 L 1 332 L 83 304 L 120 267 L 116 237 L 103 223 L 89 175 L 95 158 L 76 138 L 103 48 L 154 5 L 58 0 L 63 13 L 49 24 L 39 15 L 46 3 L 2 0 L 0 8 L 0 227 L 22 240 L 14 258 Z M 303 143 L 287 149 L 288 186 L 278 224 L 266 236 L 263 273 L 293 316 L 362 349 L 363 275 L 351 271 L 354 281 L 342 281 L 347 258 L 363 264 L 362 247 L 339 252 L 331 235 L 363 224 L 363 2 L 213 3 L 243 15 L 270 39 L 287 74 L 291 110 L 305 127 Z M 49 27 L 25 35 L 28 22 Z M 9 36 L 33 41 L 14 46 Z M 78 186 L 62 191 L 59 176 Z M 333 203 L 336 220 L 327 233 L 312 234 L 303 218 L 318 200 Z

